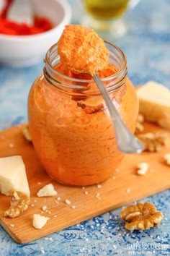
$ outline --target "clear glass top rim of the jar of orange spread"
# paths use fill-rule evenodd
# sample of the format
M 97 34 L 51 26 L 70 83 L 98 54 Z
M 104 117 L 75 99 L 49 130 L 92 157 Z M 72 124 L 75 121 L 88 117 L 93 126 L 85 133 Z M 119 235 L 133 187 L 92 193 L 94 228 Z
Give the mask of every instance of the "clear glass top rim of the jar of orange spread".
M 109 43 L 107 40 L 104 40 L 104 43 L 109 47 L 115 48 L 117 50 L 117 52 L 122 56 L 120 69 L 117 72 L 115 72 L 115 74 L 112 74 L 109 77 L 102 78 L 102 82 L 108 82 L 109 80 L 117 78 L 121 74 L 121 72 L 126 72 L 126 74 L 127 74 L 127 59 L 126 59 L 126 56 L 123 53 L 123 51 L 118 46 L 116 46 L 114 43 Z M 68 77 L 67 75 L 62 74 L 62 73 L 58 72 L 57 70 L 55 70 L 53 67 L 53 64 L 51 64 L 51 61 L 50 61 L 50 53 L 53 52 L 54 48 L 56 48 L 56 50 L 57 50 L 57 47 L 58 47 L 58 43 L 53 44 L 53 46 L 51 46 L 48 49 L 47 53 L 45 54 L 45 59 L 44 59 L 45 64 L 48 64 L 48 67 L 50 68 L 51 71 L 53 71 L 53 74 L 59 75 L 71 82 L 92 82 L 92 81 L 94 81 L 92 78 L 89 80 L 87 80 L 87 79 L 85 80 L 85 79 L 78 79 L 78 78 L 74 78 L 74 77 Z

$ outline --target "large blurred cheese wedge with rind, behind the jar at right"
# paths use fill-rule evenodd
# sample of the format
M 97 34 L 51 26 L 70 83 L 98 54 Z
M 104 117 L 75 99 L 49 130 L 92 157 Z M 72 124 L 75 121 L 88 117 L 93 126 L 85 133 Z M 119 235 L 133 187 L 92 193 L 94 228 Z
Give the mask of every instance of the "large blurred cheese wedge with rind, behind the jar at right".
M 170 129 L 170 90 L 157 82 L 147 82 L 137 90 L 139 112 L 148 121 Z

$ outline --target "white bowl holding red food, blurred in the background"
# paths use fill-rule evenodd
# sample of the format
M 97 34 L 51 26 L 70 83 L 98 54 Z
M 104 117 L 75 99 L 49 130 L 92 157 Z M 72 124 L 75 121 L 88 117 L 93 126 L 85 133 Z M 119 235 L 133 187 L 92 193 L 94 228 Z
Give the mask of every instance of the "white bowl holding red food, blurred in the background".
M 66 0 L 30 0 L 35 14 L 48 17 L 53 27 L 36 35 L 0 35 L 0 64 L 25 67 L 45 57 L 48 48 L 58 41 L 63 28 L 71 21 L 71 7 Z

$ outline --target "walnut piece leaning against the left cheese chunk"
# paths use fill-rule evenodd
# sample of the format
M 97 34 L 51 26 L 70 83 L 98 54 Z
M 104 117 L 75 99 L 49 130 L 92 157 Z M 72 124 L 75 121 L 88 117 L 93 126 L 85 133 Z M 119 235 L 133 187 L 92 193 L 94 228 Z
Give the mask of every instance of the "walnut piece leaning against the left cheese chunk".
M 14 191 L 10 198 L 10 201 L 10 208 L 9 210 L 6 210 L 4 212 L 4 216 L 9 218 L 15 218 L 21 215 L 24 210 L 27 210 L 28 203 L 30 202 L 30 197 L 24 195 L 21 192 Z

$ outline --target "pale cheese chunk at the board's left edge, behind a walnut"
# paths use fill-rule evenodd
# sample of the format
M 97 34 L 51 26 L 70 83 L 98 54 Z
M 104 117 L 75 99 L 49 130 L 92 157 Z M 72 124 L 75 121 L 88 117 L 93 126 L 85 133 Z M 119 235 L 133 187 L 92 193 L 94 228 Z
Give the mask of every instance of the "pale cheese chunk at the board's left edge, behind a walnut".
M 30 197 L 25 166 L 20 155 L 0 158 L 0 192 L 8 196 L 14 191 Z

